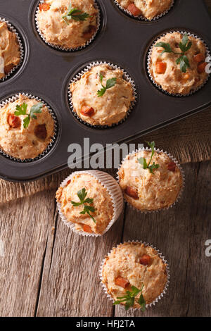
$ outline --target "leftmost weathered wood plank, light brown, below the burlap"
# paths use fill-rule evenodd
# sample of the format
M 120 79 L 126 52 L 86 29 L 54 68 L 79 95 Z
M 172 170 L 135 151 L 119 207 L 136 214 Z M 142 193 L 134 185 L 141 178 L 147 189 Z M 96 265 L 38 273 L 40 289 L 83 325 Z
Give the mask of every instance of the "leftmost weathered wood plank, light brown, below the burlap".
M 43 192 L 0 208 L 0 316 L 34 316 L 54 206 Z

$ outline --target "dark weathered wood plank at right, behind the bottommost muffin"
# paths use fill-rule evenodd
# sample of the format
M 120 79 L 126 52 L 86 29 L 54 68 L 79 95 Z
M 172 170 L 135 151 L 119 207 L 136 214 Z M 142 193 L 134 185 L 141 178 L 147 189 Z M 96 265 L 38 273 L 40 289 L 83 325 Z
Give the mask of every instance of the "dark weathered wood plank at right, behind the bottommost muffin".
M 141 239 L 156 246 L 170 263 L 167 295 L 146 313 L 115 316 L 210 316 L 211 258 L 205 241 L 211 238 L 211 162 L 184 165 L 186 188 L 181 201 L 169 211 L 134 213 L 127 208 L 123 240 Z

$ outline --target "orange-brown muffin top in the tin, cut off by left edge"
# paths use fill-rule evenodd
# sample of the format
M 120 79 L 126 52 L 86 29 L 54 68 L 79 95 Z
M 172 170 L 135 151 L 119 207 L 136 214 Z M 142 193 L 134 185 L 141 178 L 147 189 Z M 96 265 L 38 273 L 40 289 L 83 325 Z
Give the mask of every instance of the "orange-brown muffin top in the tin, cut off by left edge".
M 6 22 L 0 22 L 0 61 L 0 79 L 20 63 L 20 46 L 17 37 L 15 32 L 8 30 Z

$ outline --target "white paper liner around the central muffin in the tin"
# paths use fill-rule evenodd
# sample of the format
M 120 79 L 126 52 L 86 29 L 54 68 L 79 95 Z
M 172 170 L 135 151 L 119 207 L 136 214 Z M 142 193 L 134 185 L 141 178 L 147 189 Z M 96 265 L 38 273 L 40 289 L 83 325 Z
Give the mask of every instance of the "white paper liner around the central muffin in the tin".
M 129 107 L 129 110 L 127 111 L 125 117 L 122 118 L 122 120 L 120 120 L 120 122 L 113 123 L 113 125 L 110 125 L 110 126 L 109 125 L 91 125 L 90 123 L 84 122 L 84 120 L 82 120 L 82 118 L 79 118 L 79 116 L 77 115 L 77 113 L 74 111 L 74 106 L 72 104 L 72 93 L 70 91 L 70 84 L 72 82 L 77 82 L 77 80 L 80 80 L 80 78 L 82 77 L 82 75 L 84 75 L 84 73 L 87 73 L 87 71 L 91 70 L 91 68 L 94 68 L 97 65 L 103 65 L 103 64 L 109 65 L 114 70 L 116 70 L 116 69 L 121 70 L 122 73 L 123 73 L 124 80 L 126 80 L 127 82 L 129 82 L 131 84 L 132 90 L 133 90 L 133 94 L 134 94 L 134 101 L 132 101 L 132 103 L 131 103 L 131 105 Z M 115 65 L 113 63 L 106 62 L 106 61 L 96 61 L 96 62 L 89 63 L 89 65 L 87 65 L 83 70 L 81 70 L 79 73 L 77 73 L 77 75 L 75 75 L 75 77 L 73 77 L 72 80 L 70 80 L 70 82 L 68 84 L 68 99 L 69 99 L 71 111 L 75 115 L 75 117 L 77 118 L 77 120 L 79 120 L 79 122 L 83 123 L 84 125 L 87 125 L 88 127 L 94 127 L 94 128 L 97 128 L 97 129 L 108 129 L 110 127 L 115 127 L 117 125 L 122 124 L 129 117 L 129 114 L 132 112 L 132 109 L 134 108 L 134 105 L 136 104 L 136 99 L 137 99 L 136 85 L 134 83 L 134 80 L 132 80 L 132 77 L 130 77 L 129 74 L 127 73 L 127 71 L 125 71 L 124 69 L 120 68 L 118 65 Z

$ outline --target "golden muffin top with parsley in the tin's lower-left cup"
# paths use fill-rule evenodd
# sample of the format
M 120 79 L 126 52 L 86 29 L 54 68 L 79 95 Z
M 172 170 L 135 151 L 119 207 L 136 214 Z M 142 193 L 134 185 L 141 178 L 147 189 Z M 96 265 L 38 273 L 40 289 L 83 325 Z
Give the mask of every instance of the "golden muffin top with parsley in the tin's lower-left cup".
M 35 158 L 45 151 L 53 135 L 51 113 L 36 99 L 20 94 L 0 108 L 0 149 L 8 156 Z

